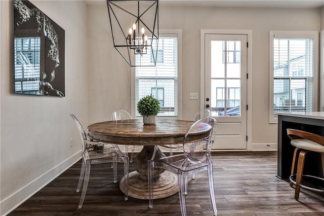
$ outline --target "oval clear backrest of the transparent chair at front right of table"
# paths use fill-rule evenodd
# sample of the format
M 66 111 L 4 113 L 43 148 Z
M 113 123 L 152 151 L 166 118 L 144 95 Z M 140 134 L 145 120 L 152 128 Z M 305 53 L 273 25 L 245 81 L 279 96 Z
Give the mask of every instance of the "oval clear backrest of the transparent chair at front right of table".
M 191 163 L 197 164 L 206 161 L 212 149 L 213 142 L 211 138 L 216 124 L 217 120 L 214 117 L 206 117 L 199 119 L 188 129 L 183 140 L 183 151 L 185 158 Z M 204 137 L 201 137 L 199 140 L 192 140 L 190 138 L 191 133 L 197 133 L 202 130 L 207 130 Z M 203 151 L 199 148 L 201 145 L 206 146 Z

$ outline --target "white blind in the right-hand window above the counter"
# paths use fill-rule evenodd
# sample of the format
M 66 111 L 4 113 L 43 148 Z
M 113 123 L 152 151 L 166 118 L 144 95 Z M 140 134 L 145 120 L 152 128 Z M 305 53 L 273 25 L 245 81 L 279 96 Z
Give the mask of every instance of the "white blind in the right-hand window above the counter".
M 273 38 L 273 113 L 313 111 L 314 43 Z

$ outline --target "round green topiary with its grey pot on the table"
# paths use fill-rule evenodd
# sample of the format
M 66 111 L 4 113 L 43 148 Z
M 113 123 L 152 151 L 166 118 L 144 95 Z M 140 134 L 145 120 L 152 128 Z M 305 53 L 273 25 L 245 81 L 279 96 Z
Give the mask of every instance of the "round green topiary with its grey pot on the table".
M 152 94 L 143 97 L 137 102 L 137 111 L 143 116 L 145 125 L 155 124 L 155 117 L 160 112 L 160 108 L 160 102 Z

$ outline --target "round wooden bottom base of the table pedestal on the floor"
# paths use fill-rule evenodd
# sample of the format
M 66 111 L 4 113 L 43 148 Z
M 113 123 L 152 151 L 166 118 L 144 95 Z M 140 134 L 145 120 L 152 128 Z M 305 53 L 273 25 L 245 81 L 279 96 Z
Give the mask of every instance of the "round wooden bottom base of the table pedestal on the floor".
M 137 199 L 147 199 L 148 196 L 148 182 L 143 181 L 139 177 L 137 171 L 129 173 L 129 186 L 128 186 L 128 196 L 137 198 Z M 123 193 L 125 193 L 125 177 L 121 178 L 119 183 L 119 188 Z M 159 179 L 154 180 L 153 183 L 153 198 L 160 199 L 172 196 L 178 193 L 178 176 L 177 174 L 169 171 L 161 173 Z

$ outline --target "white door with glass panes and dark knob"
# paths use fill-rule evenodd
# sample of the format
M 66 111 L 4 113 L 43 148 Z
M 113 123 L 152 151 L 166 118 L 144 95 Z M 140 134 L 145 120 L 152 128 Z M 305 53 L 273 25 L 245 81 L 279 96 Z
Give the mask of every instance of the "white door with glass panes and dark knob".
M 205 35 L 205 96 L 218 121 L 213 149 L 246 149 L 247 35 Z

